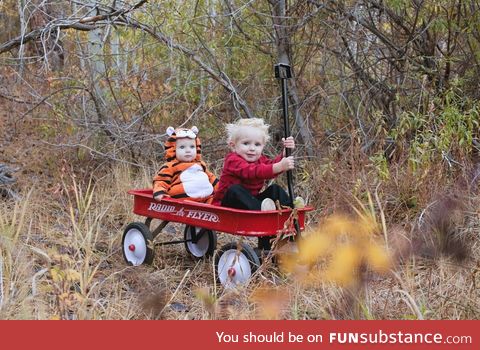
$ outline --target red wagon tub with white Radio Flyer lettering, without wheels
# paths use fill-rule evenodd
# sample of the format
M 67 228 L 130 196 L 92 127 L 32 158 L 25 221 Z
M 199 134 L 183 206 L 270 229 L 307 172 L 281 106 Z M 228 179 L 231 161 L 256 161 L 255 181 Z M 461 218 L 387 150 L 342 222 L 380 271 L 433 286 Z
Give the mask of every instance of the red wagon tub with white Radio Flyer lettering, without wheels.
M 292 209 L 240 210 L 168 197 L 157 202 L 152 197 L 152 189 L 131 190 L 128 193 L 134 196 L 133 212 L 137 215 L 241 236 L 276 235 L 288 229 L 285 223 L 292 214 Z M 312 207 L 296 210 L 300 230 L 305 228 L 305 213 L 311 210 Z

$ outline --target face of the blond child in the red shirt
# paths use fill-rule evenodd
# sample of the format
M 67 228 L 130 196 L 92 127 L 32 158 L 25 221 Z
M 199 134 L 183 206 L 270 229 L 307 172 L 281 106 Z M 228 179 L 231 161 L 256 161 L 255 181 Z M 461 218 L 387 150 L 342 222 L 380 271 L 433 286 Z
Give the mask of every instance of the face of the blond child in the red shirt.
M 265 134 L 253 127 L 242 127 L 235 142 L 230 143 L 232 151 L 249 163 L 256 162 L 265 147 Z

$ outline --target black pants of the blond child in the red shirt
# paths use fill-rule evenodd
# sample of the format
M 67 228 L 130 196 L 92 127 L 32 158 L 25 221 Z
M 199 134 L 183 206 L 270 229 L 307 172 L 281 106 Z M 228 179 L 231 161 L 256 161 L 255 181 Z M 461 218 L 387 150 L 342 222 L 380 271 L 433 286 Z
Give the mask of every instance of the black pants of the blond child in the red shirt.
M 292 206 L 292 201 L 287 192 L 280 186 L 273 184 L 256 196 L 252 195 L 250 191 L 242 185 L 232 185 L 222 199 L 222 207 L 260 210 L 262 201 L 265 198 L 271 198 L 274 202 L 278 200 L 280 204 L 284 206 Z M 273 236 L 258 237 L 258 248 L 270 250 L 270 239 L 272 237 Z

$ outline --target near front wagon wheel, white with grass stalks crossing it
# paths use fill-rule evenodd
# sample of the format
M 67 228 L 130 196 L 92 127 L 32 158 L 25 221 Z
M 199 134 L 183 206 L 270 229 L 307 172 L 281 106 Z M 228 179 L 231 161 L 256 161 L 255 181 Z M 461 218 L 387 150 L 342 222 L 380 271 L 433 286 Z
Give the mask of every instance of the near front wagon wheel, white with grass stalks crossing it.
M 215 259 L 217 278 L 226 288 L 246 283 L 259 265 L 258 255 L 246 243 L 224 245 Z

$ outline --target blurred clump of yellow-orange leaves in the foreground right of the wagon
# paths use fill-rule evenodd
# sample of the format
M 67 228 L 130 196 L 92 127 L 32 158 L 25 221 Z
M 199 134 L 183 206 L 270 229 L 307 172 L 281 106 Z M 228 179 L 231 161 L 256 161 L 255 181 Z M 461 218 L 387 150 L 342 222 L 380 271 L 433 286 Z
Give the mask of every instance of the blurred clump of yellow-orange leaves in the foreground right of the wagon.
M 302 283 L 325 281 L 352 287 L 361 282 L 366 268 L 384 273 L 391 267 L 391 256 L 378 232 L 371 217 L 332 216 L 305 232 L 297 254 L 280 257 L 281 269 Z

